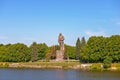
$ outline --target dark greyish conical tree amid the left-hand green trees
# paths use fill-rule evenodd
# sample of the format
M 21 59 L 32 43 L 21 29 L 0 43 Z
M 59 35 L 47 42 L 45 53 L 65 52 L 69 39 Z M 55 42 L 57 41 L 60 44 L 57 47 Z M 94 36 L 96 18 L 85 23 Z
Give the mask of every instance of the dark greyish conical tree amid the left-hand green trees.
M 38 60 L 38 49 L 37 49 L 37 43 L 33 42 L 30 46 L 31 48 L 31 61 Z

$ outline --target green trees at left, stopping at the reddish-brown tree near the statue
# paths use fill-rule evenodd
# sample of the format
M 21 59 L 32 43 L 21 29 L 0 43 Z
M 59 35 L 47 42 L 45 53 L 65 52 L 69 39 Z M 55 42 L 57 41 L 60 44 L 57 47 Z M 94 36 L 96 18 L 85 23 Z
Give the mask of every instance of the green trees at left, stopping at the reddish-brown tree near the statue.
M 33 42 L 30 47 L 25 44 L 0 45 L 0 62 L 27 62 L 45 58 L 47 45 Z

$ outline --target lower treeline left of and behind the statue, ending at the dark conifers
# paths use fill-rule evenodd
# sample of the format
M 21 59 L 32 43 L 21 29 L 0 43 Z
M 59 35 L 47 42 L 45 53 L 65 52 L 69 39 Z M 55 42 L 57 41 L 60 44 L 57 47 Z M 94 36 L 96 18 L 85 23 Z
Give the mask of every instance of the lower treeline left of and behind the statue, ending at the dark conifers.
M 75 47 L 65 45 L 64 59 L 75 59 Z M 56 58 L 58 45 L 48 47 L 45 43 L 33 42 L 29 47 L 23 43 L 0 44 L 0 62 L 29 62 Z

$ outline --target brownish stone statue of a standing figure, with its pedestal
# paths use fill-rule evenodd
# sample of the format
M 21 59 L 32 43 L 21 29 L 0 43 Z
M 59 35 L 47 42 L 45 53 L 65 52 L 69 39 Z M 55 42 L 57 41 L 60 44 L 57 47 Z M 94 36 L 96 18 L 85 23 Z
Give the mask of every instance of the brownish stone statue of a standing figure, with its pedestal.
M 63 61 L 64 60 L 64 36 L 62 33 L 58 36 L 58 43 L 60 46 L 60 50 L 56 51 L 56 61 Z

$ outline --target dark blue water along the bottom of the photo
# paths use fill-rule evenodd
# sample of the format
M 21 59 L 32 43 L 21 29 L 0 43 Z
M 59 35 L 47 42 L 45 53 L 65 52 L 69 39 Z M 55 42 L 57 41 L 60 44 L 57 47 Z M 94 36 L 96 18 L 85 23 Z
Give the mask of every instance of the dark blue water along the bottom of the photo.
M 120 72 L 0 68 L 0 80 L 120 80 Z

